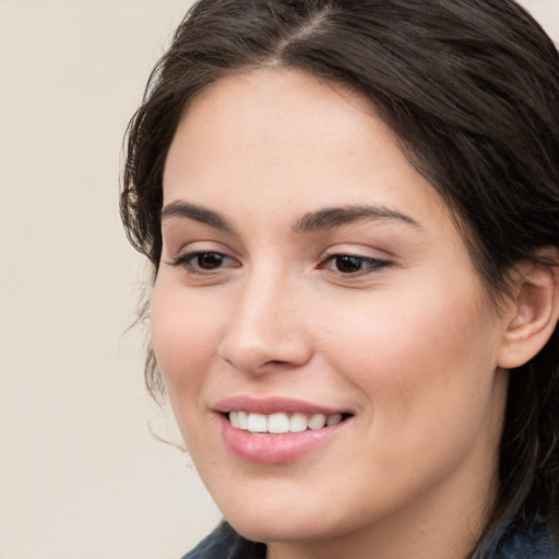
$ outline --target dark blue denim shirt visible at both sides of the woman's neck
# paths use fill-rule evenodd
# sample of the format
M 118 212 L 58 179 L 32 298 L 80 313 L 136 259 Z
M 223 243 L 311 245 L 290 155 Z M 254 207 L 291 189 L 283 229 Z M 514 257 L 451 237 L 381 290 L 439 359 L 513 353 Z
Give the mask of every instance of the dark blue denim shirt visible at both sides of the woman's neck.
M 489 538 L 490 539 L 490 538 Z M 559 559 L 551 535 L 544 528 L 510 530 L 498 544 L 489 542 L 483 559 Z M 182 559 L 265 559 L 266 546 L 239 536 L 226 522 Z

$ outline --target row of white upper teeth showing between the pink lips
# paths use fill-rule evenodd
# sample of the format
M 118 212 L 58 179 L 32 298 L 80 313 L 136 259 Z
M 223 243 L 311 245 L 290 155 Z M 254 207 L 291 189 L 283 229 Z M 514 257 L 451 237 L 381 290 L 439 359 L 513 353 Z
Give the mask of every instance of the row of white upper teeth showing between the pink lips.
M 250 432 L 270 432 L 274 435 L 322 429 L 336 425 L 342 419 L 342 414 L 330 416 L 314 414 L 309 417 L 305 414 L 295 413 L 289 417 L 282 412 L 271 415 L 229 412 L 229 421 L 233 427 Z

